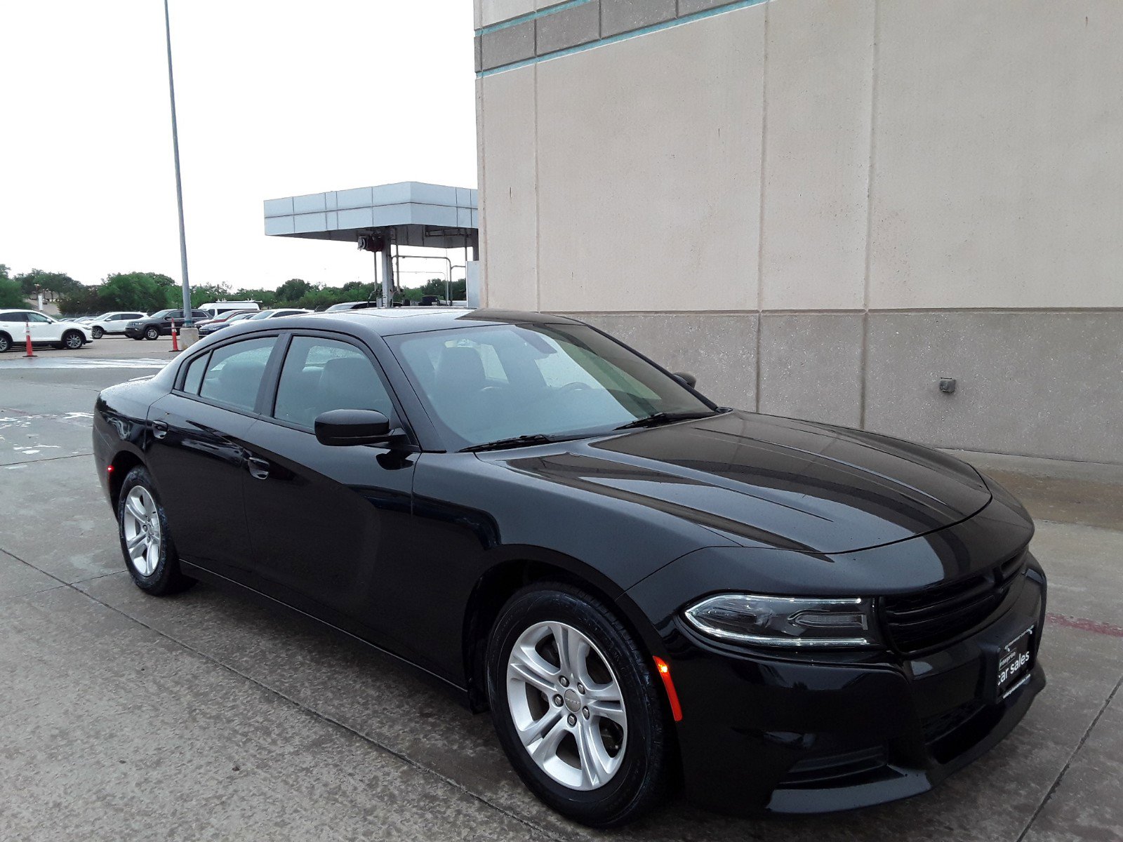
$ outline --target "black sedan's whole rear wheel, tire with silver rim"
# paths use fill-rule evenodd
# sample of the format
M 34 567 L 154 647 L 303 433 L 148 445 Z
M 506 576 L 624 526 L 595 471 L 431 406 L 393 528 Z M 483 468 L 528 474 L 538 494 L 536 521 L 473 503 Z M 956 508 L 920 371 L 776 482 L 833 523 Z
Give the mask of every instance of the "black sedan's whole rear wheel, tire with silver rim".
M 146 594 L 168 596 L 195 584 L 180 570 L 180 557 L 167 529 L 167 515 L 143 465 L 133 468 L 121 483 L 121 496 L 117 502 L 117 533 L 133 583 Z M 133 542 L 136 543 L 130 551 Z

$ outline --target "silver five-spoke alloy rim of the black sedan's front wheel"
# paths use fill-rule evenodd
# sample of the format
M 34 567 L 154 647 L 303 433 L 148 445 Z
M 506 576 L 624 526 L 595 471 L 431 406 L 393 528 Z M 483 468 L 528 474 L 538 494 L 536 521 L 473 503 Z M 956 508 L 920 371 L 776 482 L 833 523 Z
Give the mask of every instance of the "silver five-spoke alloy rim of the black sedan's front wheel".
M 546 775 L 588 791 L 620 770 L 628 740 L 623 693 L 604 656 L 560 622 L 531 625 L 508 656 L 506 697 L 523 748 Z

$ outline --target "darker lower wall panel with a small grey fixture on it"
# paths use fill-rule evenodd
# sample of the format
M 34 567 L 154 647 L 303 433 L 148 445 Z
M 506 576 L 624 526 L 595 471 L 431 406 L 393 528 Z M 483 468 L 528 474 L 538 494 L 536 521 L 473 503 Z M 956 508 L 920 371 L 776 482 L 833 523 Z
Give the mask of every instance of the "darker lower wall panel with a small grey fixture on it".
M 866 427 L 937 447 L 1123 461 L 1123 312 L 870 313 Z M 955 394 L 939 390 L 955 377 Z

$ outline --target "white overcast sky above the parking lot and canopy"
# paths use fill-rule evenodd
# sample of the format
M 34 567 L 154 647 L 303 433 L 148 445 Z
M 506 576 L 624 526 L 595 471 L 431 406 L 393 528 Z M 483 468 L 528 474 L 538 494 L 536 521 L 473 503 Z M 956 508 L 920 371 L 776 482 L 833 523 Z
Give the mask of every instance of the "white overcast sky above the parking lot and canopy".
M 264 199 L 476 186 L 471 0 L 170 2 L 193 283 L 371 280 Z M 161 0 L 0 0 L 0 263 L 180 278 L 164 49 Z

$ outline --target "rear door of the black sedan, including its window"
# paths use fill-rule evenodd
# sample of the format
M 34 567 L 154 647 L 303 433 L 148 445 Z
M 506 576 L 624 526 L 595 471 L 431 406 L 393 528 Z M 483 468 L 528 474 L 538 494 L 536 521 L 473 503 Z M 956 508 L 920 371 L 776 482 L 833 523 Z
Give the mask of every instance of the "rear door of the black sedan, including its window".
M 276 344 L 257 336 L 198 354 L 148 410 L 148 469 L 181 557 L 250 587 L 246 437 Z

